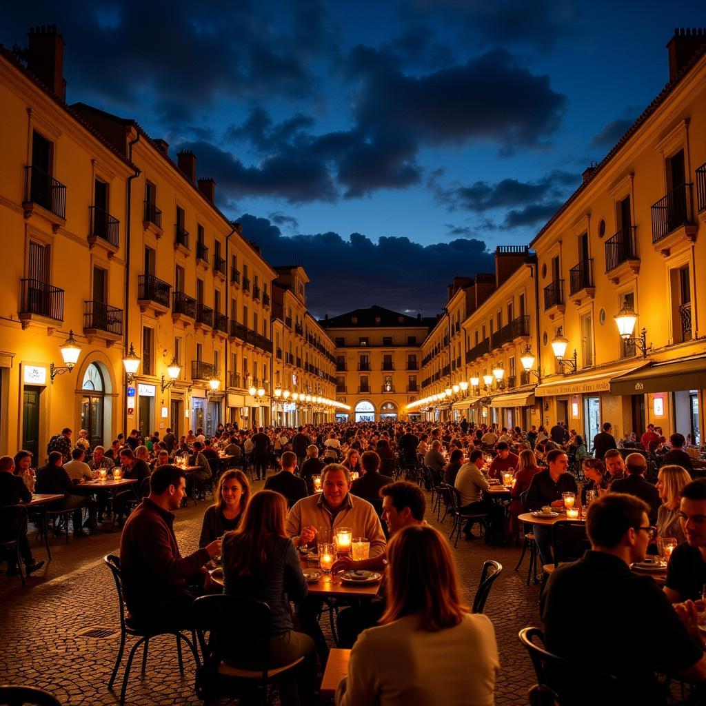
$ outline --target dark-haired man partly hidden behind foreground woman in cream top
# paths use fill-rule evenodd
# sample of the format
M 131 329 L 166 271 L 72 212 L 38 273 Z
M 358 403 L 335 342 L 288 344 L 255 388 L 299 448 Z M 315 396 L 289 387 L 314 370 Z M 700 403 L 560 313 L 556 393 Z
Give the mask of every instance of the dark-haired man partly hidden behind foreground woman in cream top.
M 390 534 L 409 525 L 424 525 L 426 498 L 416 483 L 396 481 L 383 486 L 380 491 L 383 500 L 383 520 L 388 525 Z M 387 568 L 386 552 L 372 558 L 353 561 L 348 556 L 336 561 L 331 569 L 333 573 L 348 570 L 369 570 L 384 573 Z M 338 644 L 340 647 L 353 647 L 358 635 L 378 624 L 385 611 L 384 589 L 371 601 L 361 602 L 340 611 L 337 618 Z

